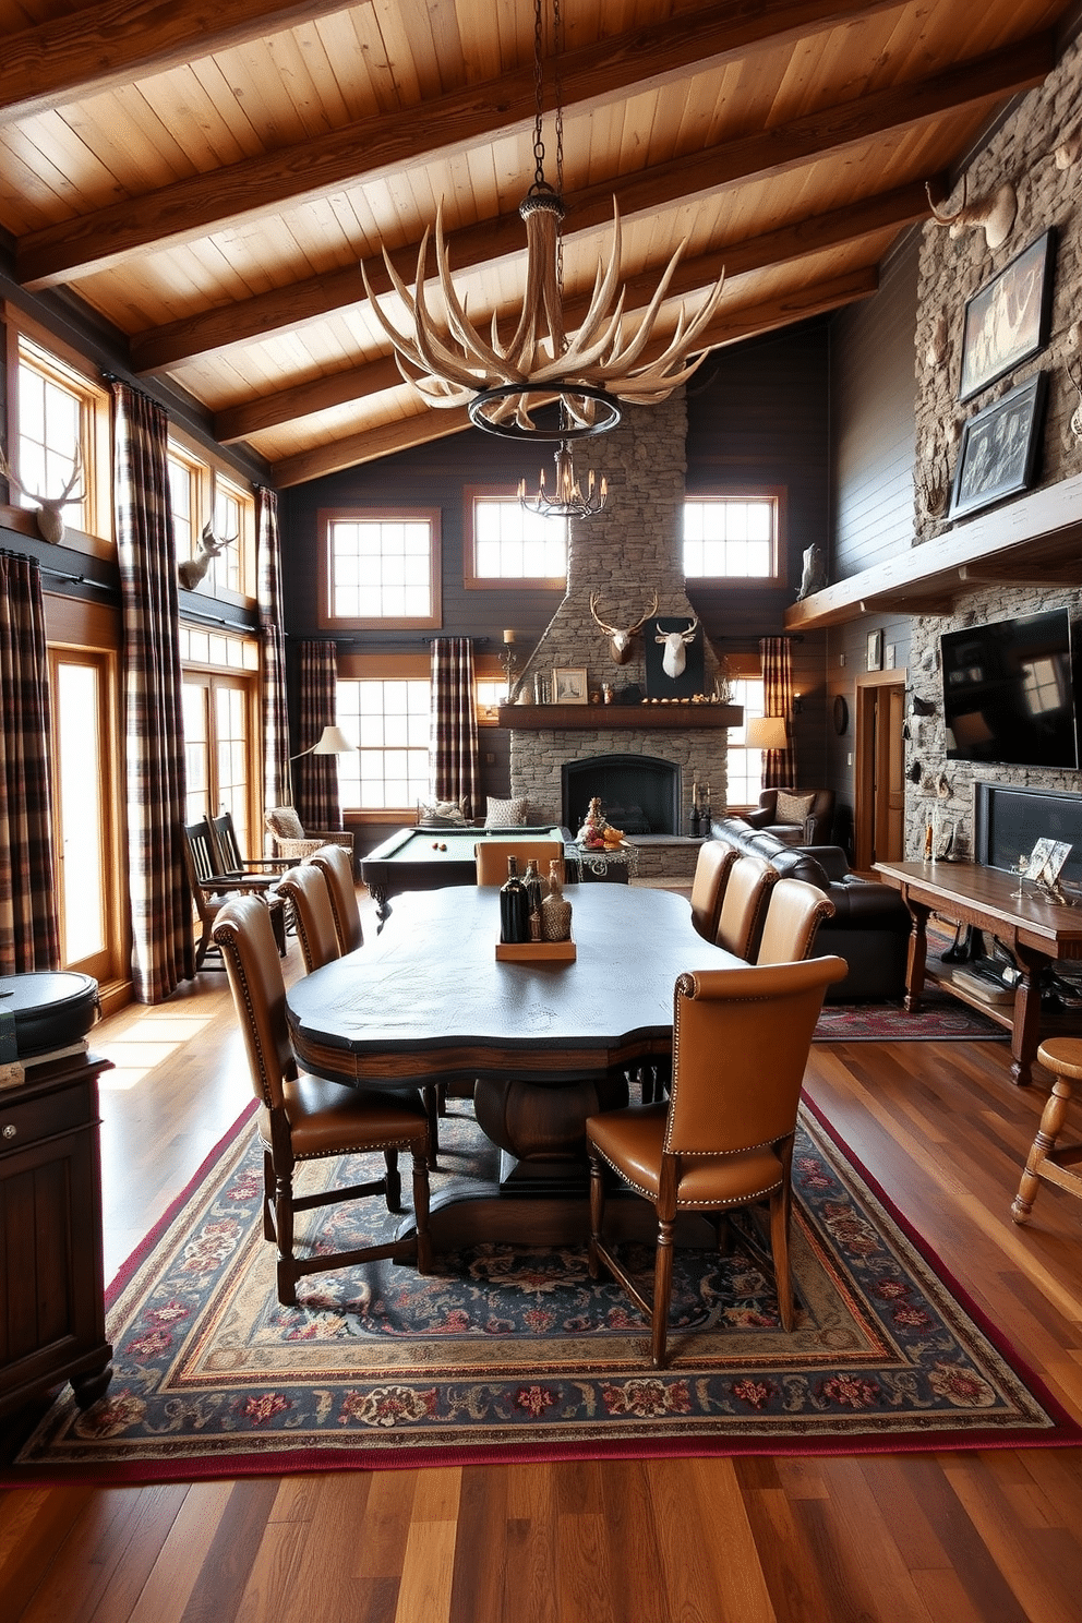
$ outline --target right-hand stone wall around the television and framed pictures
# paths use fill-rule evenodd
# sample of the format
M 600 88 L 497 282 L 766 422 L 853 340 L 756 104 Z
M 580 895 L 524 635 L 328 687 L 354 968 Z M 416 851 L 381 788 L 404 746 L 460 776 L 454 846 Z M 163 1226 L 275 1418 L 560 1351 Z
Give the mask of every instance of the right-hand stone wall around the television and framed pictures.
M 1079 404 L 1079 391 L 1067 377 L 1067 364 L 1077 368 L 1082 360 L 1077 326 L 1082 316 L 1079 307 L 1082 161 L 1069 169 L 1058 169 L 1053 161 L 1059 141 L 1074 135 L 1079 125 L 1080 71 L 1082 45 L 1076 42 L 1045 84 L 1022 99 L 1014 115 L 993 135 L 968 170 L 970 200 L 993 192 L 1003 180 L 1011 180 L 1015 187 L 1019 213 L 1014 230 L 1001 248 L 990 252 L 983 230 L 965 230 L 951 239 L 942 226 L 931 222 L 923 227 L 917 320 L 915 545 L 951 527 L 942 513 L 930 511 L 926 495 L 944 487 L 954 476 L 965 422 L 1037 372 L 1048 373 L 1048 407 L 1037 484 L 1048 485 L 1082 472 L 1082 441 L 1076 440 L 1069 428 L 1071 415 Z M 942 211 L 954 213 L 960 200 L 959 182 Z M 1048 346 L 1015 372 L 960 404 L 957 391 L 965 302 L 1050 226 L 1054 227 L 1056 243 Z M 941 354 L 938 339 L 944 344 Z M 1011 583 L 990 586 L 959 599 L 952 615 L 923 617 L 913 622 L 910 685 L 915 695 L 934 704 L 934 714 L 908 719 L 905 764 L 918 779 L 907 781 L 908 857 L 923 854 L 925 829 L 930 821 L 939 831 L 941 841 L 954 824 L 957 854 L 972 854 L 975 779 L 1076 792 L 1082 787 L 1079 773 L 975 766 L 946 760 L 939 636 L 944 631 L 1035 613 L 1061 604 L 1071 607 L 1072 620 L 1082 613 L 1076 588 Z

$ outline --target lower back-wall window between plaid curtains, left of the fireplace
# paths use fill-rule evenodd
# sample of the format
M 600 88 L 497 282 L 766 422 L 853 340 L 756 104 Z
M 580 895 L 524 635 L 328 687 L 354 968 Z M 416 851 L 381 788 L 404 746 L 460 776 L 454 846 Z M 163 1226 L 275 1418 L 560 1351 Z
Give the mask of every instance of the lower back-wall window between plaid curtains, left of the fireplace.
M 362 677 L 337 685 L 337 724 L 359 750 L 337 756 L 344 810 L 402 812 L 428 797 L 428 677 Z

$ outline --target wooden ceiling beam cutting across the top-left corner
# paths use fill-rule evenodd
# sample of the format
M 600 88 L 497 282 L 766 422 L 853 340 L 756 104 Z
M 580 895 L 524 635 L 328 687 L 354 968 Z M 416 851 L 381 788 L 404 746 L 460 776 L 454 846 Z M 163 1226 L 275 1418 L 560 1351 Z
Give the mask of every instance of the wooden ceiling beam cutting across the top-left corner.
M 342 0 L 96 0 L 6 36 L 0 122 L 65 107 L 341 10 Z

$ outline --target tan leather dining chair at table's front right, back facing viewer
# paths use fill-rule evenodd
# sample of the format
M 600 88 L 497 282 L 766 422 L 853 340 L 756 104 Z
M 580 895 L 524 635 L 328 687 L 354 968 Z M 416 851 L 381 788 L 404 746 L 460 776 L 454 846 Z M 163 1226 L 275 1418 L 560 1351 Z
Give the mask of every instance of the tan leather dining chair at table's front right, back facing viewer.
M 668 1104 L 608 1110 L 586 1123 L 590 1159 L 590 1277 L 602 1266 L 650 1326 L 650 1357 L 667 1357 L 673 1224 L 704 1212 L 715 1224 L 769 1201 L 771 1253 L 782 1328 L 792 1331 L 790 1167 L 796 1109 L 822 995 L 847 974 L 844 958 L 711 969 L 680 975 Z M 603 1238 L 605 1167 L 657 1212 L 654 1300 Z M 719 1227 L 719 1242 L 722 1230 Z

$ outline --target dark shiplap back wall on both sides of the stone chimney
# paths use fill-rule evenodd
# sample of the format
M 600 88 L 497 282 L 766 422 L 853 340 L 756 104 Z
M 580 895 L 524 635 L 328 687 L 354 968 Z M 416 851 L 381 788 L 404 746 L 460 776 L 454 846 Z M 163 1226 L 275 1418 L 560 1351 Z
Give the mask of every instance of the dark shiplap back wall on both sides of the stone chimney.
M 785 589 L 704 591 L 689 597 L 719 654 L 754 649 L 758 638 L 780 631 L 782 617 L 800 583 L 801 553 L 827 537 L 827 338 L 826 321 L 719 351 L 706 362 L 688 394 L 688 490 L 719 482 L 787 485 L 788 576 Z M 629 407 L 634 409 L 634 407 Z M 647 407 L 644 407 L 647 409 Z M 282 566 L 287 633 L 318 636 L 316 513 L 326 506 L 409 502 L 438 506 L 443 529 L 443 628 L 482 638 L 479 651 L 496 652 L 505 626 L 514 626 L 522 654 L 552 620 L 560 592 L 466 591 L 462 584 L 462 492 L 474 484 L 514 487 L 524 474 L 530 487 L 540 466 L 552 474 L 550 446 L 527 448 L 470 428 L 449 440 L 349 469 L 329 479 L 286 490 L 281 498 Z M 605 440 L 594 441 L 576 463 L 605 467 Z M 410 631 L 363 633 L 341 639 L 363 651 L 417 651 Z M 822 638 L 795 648 L 798 687 L 808 695 L 798 724 L 801 781 L 819 782 L 824 769 Z M 483 794 L 508 794 L 508 735 L 485 729 Z

